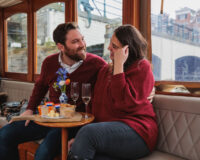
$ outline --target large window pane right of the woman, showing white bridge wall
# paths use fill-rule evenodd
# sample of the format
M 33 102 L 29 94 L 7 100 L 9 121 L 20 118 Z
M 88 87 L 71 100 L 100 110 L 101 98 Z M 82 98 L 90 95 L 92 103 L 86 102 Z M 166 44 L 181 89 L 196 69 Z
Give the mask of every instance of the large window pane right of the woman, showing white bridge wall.
M 199 0 L 168 0 L 162 15 L 161 0 L 151 3 L 152 53 L 161 59 L 160 80 L 200 82 Z

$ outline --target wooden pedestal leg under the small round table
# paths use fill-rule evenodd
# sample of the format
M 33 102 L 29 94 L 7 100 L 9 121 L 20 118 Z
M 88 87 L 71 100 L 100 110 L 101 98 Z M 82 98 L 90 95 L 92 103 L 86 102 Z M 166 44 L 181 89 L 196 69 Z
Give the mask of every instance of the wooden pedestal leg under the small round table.
M 68 153 L 68 132 L 66 128 L 62 128 L 62 160 L 67 159 Z

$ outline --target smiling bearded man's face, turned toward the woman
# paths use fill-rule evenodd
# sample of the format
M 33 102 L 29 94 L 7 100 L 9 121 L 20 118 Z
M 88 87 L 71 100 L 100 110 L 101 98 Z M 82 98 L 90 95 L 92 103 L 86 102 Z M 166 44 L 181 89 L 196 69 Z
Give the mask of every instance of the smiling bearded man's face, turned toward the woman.
M 86 58 L 86 43 L 78 29 L 70 30 L 66 35 L 64 54 L 74 61 Z

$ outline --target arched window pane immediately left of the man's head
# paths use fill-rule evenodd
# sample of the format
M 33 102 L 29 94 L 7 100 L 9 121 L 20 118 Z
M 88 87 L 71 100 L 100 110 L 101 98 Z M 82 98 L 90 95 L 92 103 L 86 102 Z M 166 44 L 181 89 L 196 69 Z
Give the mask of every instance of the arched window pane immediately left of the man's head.
M 58 49 L 53 41 L 53 31 L 65 22 L 65 3 L 51 3 L 37 11 L 37 73 L 43 60 Z

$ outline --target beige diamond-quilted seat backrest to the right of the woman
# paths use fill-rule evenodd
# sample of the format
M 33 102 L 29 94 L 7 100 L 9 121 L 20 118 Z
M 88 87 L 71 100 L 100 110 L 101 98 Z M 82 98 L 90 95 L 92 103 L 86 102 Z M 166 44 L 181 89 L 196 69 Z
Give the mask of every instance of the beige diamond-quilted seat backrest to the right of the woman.
M 200 159 L 200 98 L 155 95 L 157 149 L 188 160 Z

